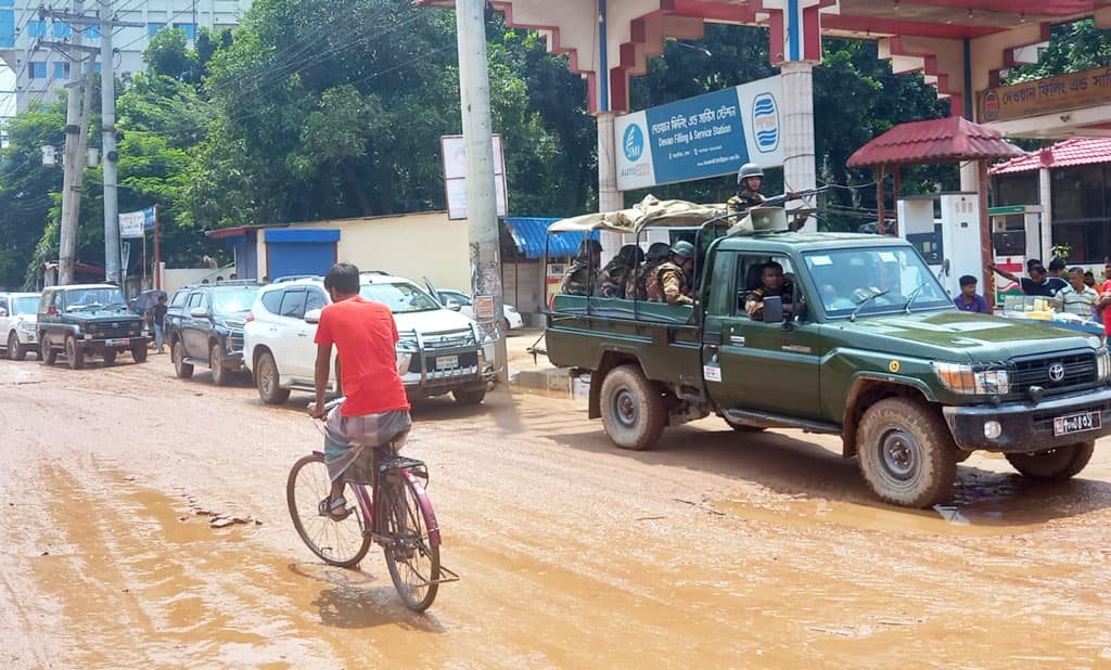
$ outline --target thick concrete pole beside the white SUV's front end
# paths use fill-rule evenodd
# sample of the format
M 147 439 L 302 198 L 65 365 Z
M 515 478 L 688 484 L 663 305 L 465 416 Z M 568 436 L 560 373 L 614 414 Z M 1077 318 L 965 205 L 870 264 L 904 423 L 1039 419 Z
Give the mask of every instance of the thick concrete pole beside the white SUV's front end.
M 501 244 L 491 144 L 490 74 L 486 49 L 486 1 L 457 0 L 459 93 L 467 149 L 467 220 L 470 225 L 471 294 L 474 318 L 487 333 L 501 323 Z M 483 303 L 493 303 L 492 313 Z M 497 339 L 494 367 L 499 380 L 509 380 L 504 334 Z

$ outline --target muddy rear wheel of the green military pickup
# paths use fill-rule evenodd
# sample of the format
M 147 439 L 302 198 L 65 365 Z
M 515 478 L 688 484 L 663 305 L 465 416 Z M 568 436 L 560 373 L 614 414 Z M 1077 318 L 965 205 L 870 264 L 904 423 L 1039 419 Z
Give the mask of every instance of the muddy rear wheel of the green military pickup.
M 621 365 L 602 379 L 602 426 L 623 449 L 647 449 L 660 439 L 668 413 L 663 397 L 637 365 Z

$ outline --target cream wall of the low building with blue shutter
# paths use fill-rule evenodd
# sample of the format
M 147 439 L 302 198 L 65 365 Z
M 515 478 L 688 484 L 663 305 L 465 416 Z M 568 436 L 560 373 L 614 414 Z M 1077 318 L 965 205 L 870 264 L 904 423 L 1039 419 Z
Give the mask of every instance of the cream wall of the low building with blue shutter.
M 363 219 L 293 223 L 283 230 L 331 229 L 340 232 L 336 257 L 359 270 L 381 270 L 423 285 L 429 277 L 441 288 L 470 293 L 467 221 L 449 221 L 447 212 L 422 212 Z M 259 275 L 267 266 L 266 234 L 258 245 Z

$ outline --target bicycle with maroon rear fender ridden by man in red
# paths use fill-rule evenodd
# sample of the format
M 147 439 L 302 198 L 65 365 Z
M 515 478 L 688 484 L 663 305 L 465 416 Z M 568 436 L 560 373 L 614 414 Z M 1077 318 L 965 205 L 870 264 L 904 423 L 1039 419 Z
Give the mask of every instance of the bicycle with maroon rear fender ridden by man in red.
M 336 398 L 326 408 L 331 410 L 344 399 Z M 348 468 L 343 497 L 353 499 L 356 506 L 342 520 L 331 518 L 320 506 L 331 489 L 322 451 L 293 464 L 286 499 L 293 528 L 313 554 L 327 564 L 353 568 L 371 542 L 381 545 L 398 595 L 408 608 L 424 611 L 440 585 L 457 581 L 459 576 L 440 565 L 440 527 L 426 491 L 428 466 L 399 456 L 403 443 L 403 438 L 394 439 L 370 449 L 370 468 L 364 467 L 367 450 Z M 371 478 L 372 489 L 367 493 Z

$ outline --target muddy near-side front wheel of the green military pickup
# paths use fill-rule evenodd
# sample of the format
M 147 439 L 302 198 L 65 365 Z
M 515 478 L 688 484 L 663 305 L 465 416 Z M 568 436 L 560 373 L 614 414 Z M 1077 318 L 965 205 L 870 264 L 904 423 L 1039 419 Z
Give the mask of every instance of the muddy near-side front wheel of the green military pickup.
M 857 453 L 864 479 L 887 502 L 924 508 L 952 495 L 957 447 L 925 403 L 885 398 L 872 405 L 860 420 Z

